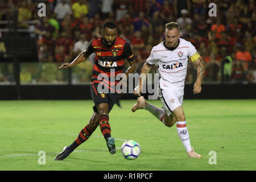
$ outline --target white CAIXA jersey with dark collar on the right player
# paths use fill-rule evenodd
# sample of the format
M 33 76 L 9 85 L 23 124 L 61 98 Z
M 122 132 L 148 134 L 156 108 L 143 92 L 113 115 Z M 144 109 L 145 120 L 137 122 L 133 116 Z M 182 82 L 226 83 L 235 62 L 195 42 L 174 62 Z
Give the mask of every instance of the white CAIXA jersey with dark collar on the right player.
M 179 39 L 179 46 L 170 51 L 164 42 L 154 46 L 146 62 L 150 65 L 158 63 L 161 89 L 184 90 L 187 75 L 188 57 L 197 57 L 195 46 L 184 39 Z M 194 56 L 197 53 L 197 56 Z M 199 56 L 200 57 L 200 56 Z M 195 59 L 193 59 L 195 60 Z

